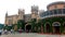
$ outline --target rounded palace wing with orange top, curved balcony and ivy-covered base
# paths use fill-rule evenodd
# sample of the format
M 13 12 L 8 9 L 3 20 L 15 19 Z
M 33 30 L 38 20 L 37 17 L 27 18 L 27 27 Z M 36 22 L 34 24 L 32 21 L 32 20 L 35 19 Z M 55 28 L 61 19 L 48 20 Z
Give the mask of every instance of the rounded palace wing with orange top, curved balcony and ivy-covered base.
M 47 11 L 41 13 L 44 33 L 65 32 L 65 2 L 58 1 L 50 3 Z

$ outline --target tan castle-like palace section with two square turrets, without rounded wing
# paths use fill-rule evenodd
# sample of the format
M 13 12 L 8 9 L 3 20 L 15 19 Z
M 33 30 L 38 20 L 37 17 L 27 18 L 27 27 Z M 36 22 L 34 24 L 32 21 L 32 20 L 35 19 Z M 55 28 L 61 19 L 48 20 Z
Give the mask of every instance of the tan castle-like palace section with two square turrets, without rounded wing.
M 18 20 L 23 20 L 25 21 L 27 26 L 27 23 L 31 20 L 31 18 L 37 18 L 38 17 L 38 7 L 37 5 L 32 5 L 31 7 L 31 14 L 25 14 L 25 10 L 24 9 L 18 9 L 18 14 L 15 15 L 8 15 L 8 13 L 5 14 L 5 25 L 13 25 L 13 24 L 17 24 Z M 15 29 L 17 27 L 15 26 Z

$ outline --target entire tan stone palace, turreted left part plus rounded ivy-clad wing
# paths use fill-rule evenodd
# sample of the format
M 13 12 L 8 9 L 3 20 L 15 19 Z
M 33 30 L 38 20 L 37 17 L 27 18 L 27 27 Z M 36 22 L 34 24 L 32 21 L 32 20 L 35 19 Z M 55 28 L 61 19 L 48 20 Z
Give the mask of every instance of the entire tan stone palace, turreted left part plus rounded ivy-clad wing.
M 38 14 L 39 12 L 39 14 Z M 31 18 L 41 20 L 40 30 L 42 33 L 61 34 L 65 32 L 65 2 L 52 2 L 47 7 L 47 11 L 39 10 L 38 7 L 31 7 L 31 14 L 25 14 L 25 10 L 18 10 L 17 15 L 9 16 L 5 14 L 5 25 L 16 24 L 18 20 L 25 20 L 27 23 Z M 31 26 L 26 24 L 25 29 Z M 29 27 L 30 28 L 30 27 Z M 36 28 L 36 27 L 35 27 Z M 30 28 L 31 29 L 31 28 Z

